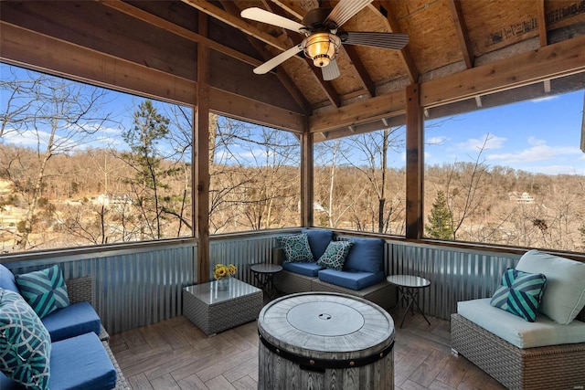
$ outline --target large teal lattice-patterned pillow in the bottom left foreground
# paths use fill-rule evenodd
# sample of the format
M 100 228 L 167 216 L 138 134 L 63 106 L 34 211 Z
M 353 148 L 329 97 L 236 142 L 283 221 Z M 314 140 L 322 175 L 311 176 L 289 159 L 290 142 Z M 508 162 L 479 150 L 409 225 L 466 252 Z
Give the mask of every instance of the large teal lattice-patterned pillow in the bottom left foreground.
M 48 389 L 51 339 L 27 302 L 0 289 L 0 371 L 27 388 Z

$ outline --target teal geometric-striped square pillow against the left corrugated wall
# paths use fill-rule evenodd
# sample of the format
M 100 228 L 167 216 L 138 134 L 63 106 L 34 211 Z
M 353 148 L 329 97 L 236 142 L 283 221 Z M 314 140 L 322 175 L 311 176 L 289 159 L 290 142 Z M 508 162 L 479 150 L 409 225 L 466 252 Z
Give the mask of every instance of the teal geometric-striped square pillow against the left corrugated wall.
M 20 295 L 41 319 L 57 309 L 69 306 L 67 286 L 58 266 L 15 275 L 15 279 Z

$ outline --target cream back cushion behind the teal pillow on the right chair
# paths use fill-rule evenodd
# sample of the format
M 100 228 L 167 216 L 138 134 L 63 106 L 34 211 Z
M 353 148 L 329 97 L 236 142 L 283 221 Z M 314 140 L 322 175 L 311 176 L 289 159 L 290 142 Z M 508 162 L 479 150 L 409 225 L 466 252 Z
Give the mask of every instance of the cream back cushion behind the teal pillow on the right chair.
M 568 324 L 585 306 L 585 263 L 533 249 L 520 258 L 516 269 L 547 276 L 538 311 L 551 320 Z

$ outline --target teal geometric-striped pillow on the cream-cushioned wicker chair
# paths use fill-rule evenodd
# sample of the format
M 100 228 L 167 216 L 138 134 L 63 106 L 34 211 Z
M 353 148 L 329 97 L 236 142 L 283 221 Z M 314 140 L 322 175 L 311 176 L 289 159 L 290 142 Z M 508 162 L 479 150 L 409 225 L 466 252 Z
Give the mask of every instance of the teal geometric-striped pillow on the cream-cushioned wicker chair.
M 495 290 L 491 304 L 526 321 L 534 322 L 546 285 L 547 277 L 543 274 L 506 269 L 502 285 Z

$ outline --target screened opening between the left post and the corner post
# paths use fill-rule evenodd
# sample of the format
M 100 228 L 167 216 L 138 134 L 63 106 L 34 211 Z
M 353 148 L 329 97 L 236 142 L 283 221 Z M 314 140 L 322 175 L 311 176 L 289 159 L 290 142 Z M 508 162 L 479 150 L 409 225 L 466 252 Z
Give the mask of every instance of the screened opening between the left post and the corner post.
M 298 138 L 218 115 L 209 127 L 209 233 L 300 226 Z

